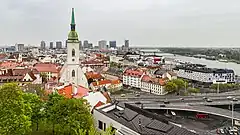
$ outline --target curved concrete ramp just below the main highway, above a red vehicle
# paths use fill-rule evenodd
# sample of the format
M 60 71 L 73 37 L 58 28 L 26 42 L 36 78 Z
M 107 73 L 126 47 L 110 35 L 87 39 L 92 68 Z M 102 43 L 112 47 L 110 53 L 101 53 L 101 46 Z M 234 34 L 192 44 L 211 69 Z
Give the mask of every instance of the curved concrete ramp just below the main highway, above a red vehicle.
M 141 106 L 141 105 L 137 105 Z M 232 119 L 232 111 L 226 109 L 220 109 L 216 107 L 208 107 L 208 106 L 175 106 L 175 105 L 166 105 L 165 107 L 160 107 L 157 104 L 143 104 L 143 109 L 147 110 L 176 110 L 176 111 L 191 111 L 191 112 L 200 112 L 206 114 L 212 114 L 216 116 L 221 116 L 225 118 Z M 233 119 L 240 121 L 240 113 L 234 112 Z

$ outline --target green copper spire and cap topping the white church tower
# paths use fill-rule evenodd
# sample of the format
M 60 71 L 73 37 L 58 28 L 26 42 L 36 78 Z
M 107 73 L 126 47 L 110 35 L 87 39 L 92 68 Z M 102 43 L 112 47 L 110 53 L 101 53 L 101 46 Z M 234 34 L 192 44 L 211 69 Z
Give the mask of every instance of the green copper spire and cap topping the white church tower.
M 69 42 L 78 42 L 78 34 L 75 31 L 75 16 L 74 16 L 74 8 L 72 8 L 72 17 L 71 17 L 71 31 L 68 34 L 68 41 Z

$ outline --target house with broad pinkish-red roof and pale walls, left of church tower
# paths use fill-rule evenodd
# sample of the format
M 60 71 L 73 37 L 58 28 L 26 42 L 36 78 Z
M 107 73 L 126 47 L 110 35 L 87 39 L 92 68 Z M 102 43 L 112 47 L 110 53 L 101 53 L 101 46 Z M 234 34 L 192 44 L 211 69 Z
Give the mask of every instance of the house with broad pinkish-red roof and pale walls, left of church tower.
M 46 74 L 48 80 L 52 77 L 59 78 L 60 68 L 56 64 L 37 63 L 34 65 L 34 68 L 37 69 L 40 74 Z

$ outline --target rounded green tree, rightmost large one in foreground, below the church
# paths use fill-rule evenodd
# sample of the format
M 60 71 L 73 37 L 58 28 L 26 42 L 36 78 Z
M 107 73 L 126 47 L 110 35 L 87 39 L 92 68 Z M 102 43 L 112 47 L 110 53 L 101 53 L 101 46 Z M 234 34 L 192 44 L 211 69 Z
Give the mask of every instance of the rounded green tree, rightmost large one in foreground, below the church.
M 66 99 L 53 94 L 47 103 L 46 114 L 53 135 L 75 135 L 76 131 L 88 131 L 93 125 L 90 107 L 83 99 Z

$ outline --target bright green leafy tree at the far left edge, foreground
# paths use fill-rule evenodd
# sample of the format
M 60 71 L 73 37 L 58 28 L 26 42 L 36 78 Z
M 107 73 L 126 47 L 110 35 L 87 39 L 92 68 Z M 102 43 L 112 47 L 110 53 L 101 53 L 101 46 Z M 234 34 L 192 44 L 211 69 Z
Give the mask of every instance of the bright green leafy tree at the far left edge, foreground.
M 0 134 L 25 135 L 31 131 L 31 108 L 15 83 L 0 87 Z

